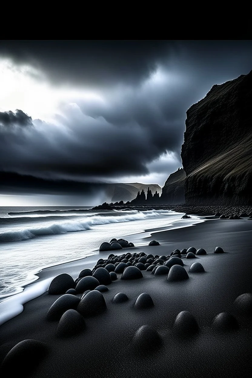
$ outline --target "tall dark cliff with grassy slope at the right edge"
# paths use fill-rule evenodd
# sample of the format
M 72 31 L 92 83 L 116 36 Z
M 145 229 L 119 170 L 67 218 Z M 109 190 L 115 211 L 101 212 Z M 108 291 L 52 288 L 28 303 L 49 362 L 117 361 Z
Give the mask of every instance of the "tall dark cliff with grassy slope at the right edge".
M 181 158 L 190 204 L 252 204 L 252 71 L 187 110 Z

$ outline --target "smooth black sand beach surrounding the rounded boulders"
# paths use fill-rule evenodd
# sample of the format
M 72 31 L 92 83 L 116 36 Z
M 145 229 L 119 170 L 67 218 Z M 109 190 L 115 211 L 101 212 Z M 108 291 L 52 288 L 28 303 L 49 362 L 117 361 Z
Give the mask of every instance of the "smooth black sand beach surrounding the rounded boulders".
M 16 365 L 22 377 L 248 377 L 251 374 L 252 317 L 233 305 L 244 293 L 252 293 L 251 280 L 252 222 L 243 220 L 210 220 L 196 226 L 156 232 L 160 246 L 142 246 L 114 251 L 114 254 L 140 253 L 168 256 L 178 248 L 204 248 L 207 255 L 186 259 L 182 255 L 189 279 L 169 282 L 167 274 L 154 275 L 142 271 L 140 279 L 117 280 L 102 293 L 107 310 L 85 317 L 85 329 L 75 336 L 57 337 L 59 321 L 48 321 L 46 314 L 60 295 L 48 292 L 24 305 L 15 318 L 0 326 L 0 361 L 20 341 L 34 339 L 45 343 L 45 356 L 29 372 L 34 356 L 24 355 L 23 365 L 15 358 L 1 368 L 2 376 L 11 373 Z M 130 237 L 128 240 L 131 241 Z M 108 240 L 109 241 L 109 240 Z M 225 253 L 213 254 L 216 246 Z M 83 260 L 57 265 L 39 273 L 40 279 L 70 274 L 76 279 L 81 270 L 92 268 L 108 253 L 99 253 Z M 184 256 L 184 257 L 183 257 Z M 189 272 L 190 266 L 200 262 L 204 273 Z M 117 293 L 125 293 L 128 300 L 114 303 Z M 154 306 L 135 308 L 138 296 L 147 293 Z M 82 294 L 77 294 L 81 297 Z M 251 306 L 251 304 L 250 304 Z M 250 308 L 251 310 L 251 308 Z M 198 323 L 198 332 L 188 328 L 179 334 L 182 324 L 174 325 L 181 311 L 189 311 Z M 212 321 L 220 313 L 235 316 L 238 328 L 224 330 Z M 217 321 L 218 323 L 218 321 Z M 220 322 L 221 323 L 221 322 Z M 136 334 L 143 325 L 150 333 L 147 341 Z M 159 340 L 159 342 L 158 342 Z M 36 355 L 36 348 L 34 348 Z M 1 371 L 0 370 L 0 371 Z

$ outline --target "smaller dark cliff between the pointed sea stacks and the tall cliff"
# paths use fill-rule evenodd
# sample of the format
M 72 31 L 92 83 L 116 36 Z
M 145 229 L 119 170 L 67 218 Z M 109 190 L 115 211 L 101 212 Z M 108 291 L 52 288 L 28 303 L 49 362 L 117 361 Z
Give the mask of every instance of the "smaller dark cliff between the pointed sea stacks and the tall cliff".
M 176 172 L 170 174 L 162 188 L 161 201 L 164 203 L 184 203 L 185 179 L 186 172 L 184 169 L 178 169 Z

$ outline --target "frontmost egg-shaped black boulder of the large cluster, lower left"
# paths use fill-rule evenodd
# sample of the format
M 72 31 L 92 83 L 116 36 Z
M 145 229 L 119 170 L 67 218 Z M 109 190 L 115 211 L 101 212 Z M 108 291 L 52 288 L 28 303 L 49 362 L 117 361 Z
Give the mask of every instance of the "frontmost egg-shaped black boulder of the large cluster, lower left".
M 76 310 L 67 310 L 60 318 L 56 336 L 69 337 L 85 329 L 85 320 Z

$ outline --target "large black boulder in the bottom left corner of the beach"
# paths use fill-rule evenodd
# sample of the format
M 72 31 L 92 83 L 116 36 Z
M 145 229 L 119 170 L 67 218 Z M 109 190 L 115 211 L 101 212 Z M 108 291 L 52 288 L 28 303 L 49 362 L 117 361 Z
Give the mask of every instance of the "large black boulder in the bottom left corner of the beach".
M 5 356 L 1 366 L 1 373 L 4 374 L 2 376 L 17 376 L 17 369 L 19 376 L 21 372 L 22 376 L 29 376 L 45 357 L 46 352 L 47 347 L 43 342 L 32 339 L 20 341 Z

